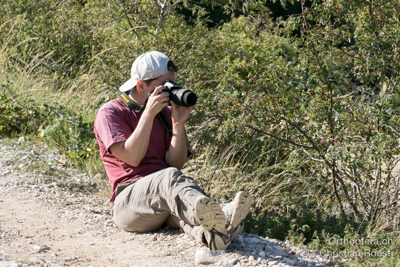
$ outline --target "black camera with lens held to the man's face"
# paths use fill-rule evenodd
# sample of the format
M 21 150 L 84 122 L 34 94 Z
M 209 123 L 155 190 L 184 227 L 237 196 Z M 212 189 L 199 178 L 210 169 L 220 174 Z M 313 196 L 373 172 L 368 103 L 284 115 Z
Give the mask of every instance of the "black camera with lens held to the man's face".
M 165 81 L 163 84 L 165 89 L 159 93 L 169 93 L 169 100 L 172 100 L 178 106 L 191 107 L 197 102 L 197 96 L 190 90 L 183 89 L 179 84 L 172 81 Z

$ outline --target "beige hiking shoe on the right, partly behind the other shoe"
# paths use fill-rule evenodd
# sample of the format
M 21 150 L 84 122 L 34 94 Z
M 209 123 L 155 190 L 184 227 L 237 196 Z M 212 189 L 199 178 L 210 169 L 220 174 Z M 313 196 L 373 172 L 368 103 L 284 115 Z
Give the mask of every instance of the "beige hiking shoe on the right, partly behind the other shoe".
M 225 214 L 226 230 L 231 239 L 235 238 L 244 228 L 242 221 L 247 216 L 251 207 L 251 196 L 244 191 L 239 191 L 232 201 L 220 203 Z

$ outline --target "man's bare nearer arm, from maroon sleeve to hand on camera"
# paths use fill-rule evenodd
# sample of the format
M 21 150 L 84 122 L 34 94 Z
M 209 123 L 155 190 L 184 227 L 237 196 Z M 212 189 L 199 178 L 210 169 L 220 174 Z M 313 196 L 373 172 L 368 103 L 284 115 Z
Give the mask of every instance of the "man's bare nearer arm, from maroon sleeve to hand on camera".
M 139 122 L 127 140 L 113 143 L 109 151 L 119 160 L 133 166 L 139 166 L 146 154 L 154 116 L 164 107 L 168 106 L 168 93 L 158 94 L 164 86 L 157 87 L 148 98 L 146 107 L 141 114 Z

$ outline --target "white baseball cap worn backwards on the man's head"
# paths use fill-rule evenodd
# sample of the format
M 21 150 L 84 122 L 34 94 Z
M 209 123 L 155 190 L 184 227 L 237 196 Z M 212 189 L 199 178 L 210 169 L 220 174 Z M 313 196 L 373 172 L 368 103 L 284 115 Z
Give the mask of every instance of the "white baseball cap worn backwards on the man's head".
M 130 79 L 119 87 L 119 91 L 126 92 L 132 89 L 139 80 L 145 81 L 155 79 L 177 71 L 178 68 L 164 54 L 158 51 L 146 52 L 133 61 Z

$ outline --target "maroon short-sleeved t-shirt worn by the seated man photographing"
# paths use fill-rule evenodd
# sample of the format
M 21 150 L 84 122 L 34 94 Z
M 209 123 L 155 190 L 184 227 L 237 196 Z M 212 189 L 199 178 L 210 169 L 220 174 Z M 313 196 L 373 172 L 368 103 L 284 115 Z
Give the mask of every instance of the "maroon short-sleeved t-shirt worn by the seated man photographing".
M 165 107 L 162 112 L 171 119 L 171 107 Z M 153 126 L 149 137 L 146 154 L 139 166 L 133 167 L 115 157 L 109 152 L 110 145 L 125 141 L 132 134 L 140 116 L 143 113 L 129 110 L 120 99 L 105 103 L 98 110 L 94 120 L 94 134 L 100 148 L 101 160 L 111 183 L 112 195 L 110 204 L 115 197 L 115 189 L 120 183 L 138 180 L 148 174 L 165 169 L 165 153 L 168 151 L 172 133 L 168 132 L 161 124 L 158 116 L 154 117 Z M 186 136 L 187 155 L 191 154 Z

